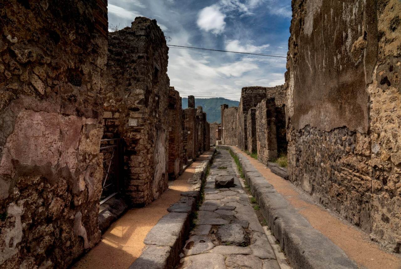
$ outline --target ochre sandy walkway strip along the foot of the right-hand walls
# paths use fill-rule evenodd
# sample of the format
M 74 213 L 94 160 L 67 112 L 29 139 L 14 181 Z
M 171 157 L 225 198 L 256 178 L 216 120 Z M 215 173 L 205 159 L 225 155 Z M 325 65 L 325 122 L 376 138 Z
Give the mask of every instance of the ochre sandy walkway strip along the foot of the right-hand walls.
M 382 251 L 375 243 L 366 240 L 367 235 L 362 231 L 342 223 L 327 211 L 302 199 L 300 194 L 295 191 L 296 187 L 290 181 L 273 174 L 265 165 L 240 149 L 235 147 L 234 150 L 246 156 L 255 169 L 310 222 L 312 227 L 319 230 L 334 244 L 343 249 L 350 259 L 356 261 L 358 266 L 369 269 L 401 269 L 399 255 L 392 255 Z

